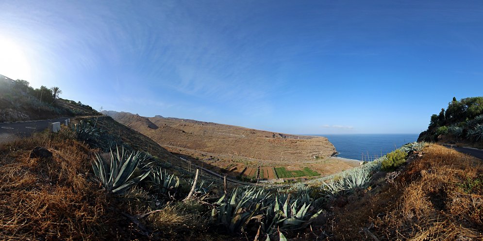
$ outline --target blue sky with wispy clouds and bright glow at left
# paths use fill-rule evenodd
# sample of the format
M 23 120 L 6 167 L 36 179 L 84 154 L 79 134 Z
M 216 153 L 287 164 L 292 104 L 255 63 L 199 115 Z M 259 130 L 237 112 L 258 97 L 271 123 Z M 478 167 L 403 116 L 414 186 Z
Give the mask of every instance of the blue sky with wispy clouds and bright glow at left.
M 453 96 L 483 90 L 482 1 L 0 9 L 0 74 L 95 109 L 295 134 L 419 133 Z

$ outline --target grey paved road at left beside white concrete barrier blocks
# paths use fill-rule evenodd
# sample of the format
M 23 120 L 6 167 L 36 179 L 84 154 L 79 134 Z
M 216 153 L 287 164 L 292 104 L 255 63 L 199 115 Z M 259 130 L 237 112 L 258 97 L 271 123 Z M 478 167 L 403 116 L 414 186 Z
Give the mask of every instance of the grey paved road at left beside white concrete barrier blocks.
M 35 131 L 43 131 L 49 127 L 49 123 L 60 122 L 65 123 L 68 117 L 50 119 L 50 120 L 33 120 L 25 122 L 0 123 L 0 136 L 9 138 L 12 136 L 29 136 Z

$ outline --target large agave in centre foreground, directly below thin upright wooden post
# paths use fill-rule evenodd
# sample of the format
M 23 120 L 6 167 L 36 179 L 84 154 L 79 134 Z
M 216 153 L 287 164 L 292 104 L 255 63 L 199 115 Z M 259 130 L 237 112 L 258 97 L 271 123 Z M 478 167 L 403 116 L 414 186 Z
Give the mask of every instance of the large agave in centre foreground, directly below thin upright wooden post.
M 262 188 L 253 187 L 240 192 L 237 188 L 233 191 L 230 199 L 223 195 L 215 203 L 216 207 L 212 210 L 212 218 L 217 223 L 227 227 L 230 232 L 239 232 L 254 215 L 259 213 L 269 196 Z

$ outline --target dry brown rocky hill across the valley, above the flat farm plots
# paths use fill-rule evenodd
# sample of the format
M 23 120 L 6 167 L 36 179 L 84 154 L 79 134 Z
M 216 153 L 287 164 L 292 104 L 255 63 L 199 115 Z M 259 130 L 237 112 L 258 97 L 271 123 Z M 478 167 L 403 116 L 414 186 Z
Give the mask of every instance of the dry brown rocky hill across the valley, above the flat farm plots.
M 270 163 L 308 161 L 336 153 L 333 144 L 320 136 L 289 135 L 199 120 L 137 117 L 126 112 L 102 113 L 171 151 L 198 151 Z

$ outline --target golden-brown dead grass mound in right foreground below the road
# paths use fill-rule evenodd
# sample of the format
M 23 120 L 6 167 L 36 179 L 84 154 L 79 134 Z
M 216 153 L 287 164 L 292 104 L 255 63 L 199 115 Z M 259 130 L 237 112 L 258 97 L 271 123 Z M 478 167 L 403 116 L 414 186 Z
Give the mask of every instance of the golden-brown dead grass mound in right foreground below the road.
M 483 239 L 482 193 L 462 188 L 483 173 L 482 160 L 439 145 L 423 151 L 396 184 L 335 208 L 334 239 L 370 240 L 363 228 L 380 240 Z

